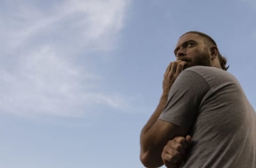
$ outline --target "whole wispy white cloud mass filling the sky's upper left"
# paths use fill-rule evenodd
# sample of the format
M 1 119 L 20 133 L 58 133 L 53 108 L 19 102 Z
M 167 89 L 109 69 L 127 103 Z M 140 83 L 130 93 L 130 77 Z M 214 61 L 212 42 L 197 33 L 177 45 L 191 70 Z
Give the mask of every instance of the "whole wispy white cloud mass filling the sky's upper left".
M 128 106 L 121 94 L 100 91 L 100 74 L 72 60 L 115 47 L 126 1 L 16 3 L 6 1 L 0 17 L 0 111 L 74 116 L 94 105 Z

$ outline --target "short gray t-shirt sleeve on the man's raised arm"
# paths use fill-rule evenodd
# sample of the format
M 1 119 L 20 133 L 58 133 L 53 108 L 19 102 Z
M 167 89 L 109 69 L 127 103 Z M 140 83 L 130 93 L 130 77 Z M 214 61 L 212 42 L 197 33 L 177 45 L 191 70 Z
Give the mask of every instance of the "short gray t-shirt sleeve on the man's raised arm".
M 182 71 L 170 89 L 159 119 L 189 130 L 209 89 L 209 84 L 200 74 L 191 70 Z

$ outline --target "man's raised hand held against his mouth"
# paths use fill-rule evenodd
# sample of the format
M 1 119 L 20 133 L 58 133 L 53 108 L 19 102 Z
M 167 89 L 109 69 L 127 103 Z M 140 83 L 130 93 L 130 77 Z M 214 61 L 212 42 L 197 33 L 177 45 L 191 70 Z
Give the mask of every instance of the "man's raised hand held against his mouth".
M 174 83 L 175 79 L 178 77 L 180 72 L 183 71 L 184 66 L 187 64 L 185 61 L 177 60 L 171 62 L 164 73 L 163 80 L 163 94 L 168 95 L 169 90 Z

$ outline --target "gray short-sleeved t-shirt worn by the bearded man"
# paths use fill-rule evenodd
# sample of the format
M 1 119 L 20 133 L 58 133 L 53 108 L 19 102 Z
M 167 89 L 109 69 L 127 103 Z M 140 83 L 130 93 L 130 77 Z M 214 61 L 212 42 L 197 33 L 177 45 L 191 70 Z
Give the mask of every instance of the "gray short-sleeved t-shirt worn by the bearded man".
M 256 167 L 256 114 L 224 70 L 194 66 L 181 72 L 159 119 L 192 137 L 181 167 Z

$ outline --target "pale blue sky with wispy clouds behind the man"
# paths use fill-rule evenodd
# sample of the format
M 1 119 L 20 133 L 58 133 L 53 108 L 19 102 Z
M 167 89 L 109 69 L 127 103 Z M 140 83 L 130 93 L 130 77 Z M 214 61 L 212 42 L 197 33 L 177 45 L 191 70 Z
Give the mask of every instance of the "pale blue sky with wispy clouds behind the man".
M 256 109 L 255 20 L 255 0 L 1 0 L 0 168 L 143 167 L 140 131 L 191 30 Z

